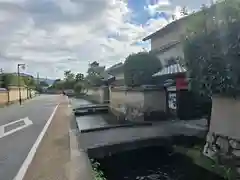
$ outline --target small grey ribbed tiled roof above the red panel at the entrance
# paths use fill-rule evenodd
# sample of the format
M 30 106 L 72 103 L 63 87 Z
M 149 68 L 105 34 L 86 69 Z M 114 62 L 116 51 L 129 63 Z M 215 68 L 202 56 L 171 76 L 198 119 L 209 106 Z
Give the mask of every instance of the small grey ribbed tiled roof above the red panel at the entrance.
M 163 68 L 161 71 L 157 72 L 153 76 L 162 76 L 167 74 L 178 74 L 178 73 L 184 73 L 187 70 L 182 67 L 180 64 L 174 64 L 168 67 Z

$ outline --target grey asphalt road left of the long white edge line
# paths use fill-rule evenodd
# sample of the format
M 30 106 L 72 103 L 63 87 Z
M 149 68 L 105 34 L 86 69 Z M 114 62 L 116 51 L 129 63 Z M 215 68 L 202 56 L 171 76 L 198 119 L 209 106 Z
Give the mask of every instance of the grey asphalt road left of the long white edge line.
M 14 179 L 58 104 L 58 99 L 58 95 L 42 95 L 26 101 L 22 106 L 15 104 L 0 108 L 0 135 L 8 123 L 24 118 L 32 121 L 32 124 L 16 132 L 14 128 L 21 127 L 23 122 L 13 123 L 5 127 L 5 131 L 12 133 L 0 136 L 0 179 Z

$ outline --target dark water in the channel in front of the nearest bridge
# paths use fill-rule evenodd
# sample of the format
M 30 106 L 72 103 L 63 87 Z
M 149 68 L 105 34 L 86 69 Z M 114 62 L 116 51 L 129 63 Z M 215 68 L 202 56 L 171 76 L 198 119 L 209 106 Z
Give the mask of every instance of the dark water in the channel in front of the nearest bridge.
M 162 147 L 126 151 L 97 161 L 107 180 L 223 180 Z

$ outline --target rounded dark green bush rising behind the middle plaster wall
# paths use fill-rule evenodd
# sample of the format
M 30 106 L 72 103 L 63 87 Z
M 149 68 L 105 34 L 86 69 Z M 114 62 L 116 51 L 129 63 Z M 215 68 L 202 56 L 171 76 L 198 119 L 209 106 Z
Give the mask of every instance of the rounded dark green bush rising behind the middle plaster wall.
M 148 52 L 129 55 L 124 63 L 124 78 L 127 86 L 152 83 L 152 75 L 162 68 L 160 60 Z

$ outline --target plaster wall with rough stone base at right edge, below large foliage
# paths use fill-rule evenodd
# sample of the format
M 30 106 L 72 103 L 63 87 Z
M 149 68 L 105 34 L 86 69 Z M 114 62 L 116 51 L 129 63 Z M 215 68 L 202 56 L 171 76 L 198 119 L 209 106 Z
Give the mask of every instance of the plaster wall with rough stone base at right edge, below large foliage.
M 240 173 L 240 99 L 213 97 L 204 154 L 228 159 Z

